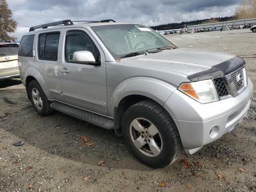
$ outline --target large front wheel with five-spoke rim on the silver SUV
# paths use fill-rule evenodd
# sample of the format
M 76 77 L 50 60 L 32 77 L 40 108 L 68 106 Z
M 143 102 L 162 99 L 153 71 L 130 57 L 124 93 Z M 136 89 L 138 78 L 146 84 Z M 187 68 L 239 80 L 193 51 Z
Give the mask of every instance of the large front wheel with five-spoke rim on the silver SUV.
M 140 125 L 144 124 L 144 131 L 138 132 L 134 128 L 136 125 L 133 126 L 134 122 L 136 122 L 135 124 L 138 122 Z M 157 131 L 158 133 L 154 136 Z M 154 133 L 152 134 L 152 132 Z M 166 167 L 180 156 L 182 144 L 178 129 L 168 112 L 154 101 L 145 100 L 130 106 L 122 118 L 122 133 L 134 156 L 150 167 Z M 138 140 L 143 144 L 145 144 L 145 140 L 147 142 L 140 147 Z M 157 144 L 158 150 L 155 150 L 157 148 L 154 147 L 155 144 Z

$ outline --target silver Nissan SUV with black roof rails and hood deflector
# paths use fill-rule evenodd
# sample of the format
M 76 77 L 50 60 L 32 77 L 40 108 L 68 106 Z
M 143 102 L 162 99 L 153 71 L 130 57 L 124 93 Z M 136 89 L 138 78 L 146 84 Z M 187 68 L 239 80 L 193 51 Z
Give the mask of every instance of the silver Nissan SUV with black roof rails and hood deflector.
M 178 48 L 140 24 L 79 23 L 31 27 L 21 40 L 20 78 L 40 115 L 57 110 L 112 129 L 155 168 L 246 116 L 253 88 L 242 58 Z

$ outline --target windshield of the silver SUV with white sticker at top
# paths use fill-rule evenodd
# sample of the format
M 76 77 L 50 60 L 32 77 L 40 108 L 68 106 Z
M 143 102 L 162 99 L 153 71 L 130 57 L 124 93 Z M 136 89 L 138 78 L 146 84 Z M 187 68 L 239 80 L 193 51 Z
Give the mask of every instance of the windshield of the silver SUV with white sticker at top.
M 157 48 L 178 48 L 157 32 L 143 25 L 103 25 L 93 26 L 92 30 L 115 59 L 134 52 L 145 52 Z

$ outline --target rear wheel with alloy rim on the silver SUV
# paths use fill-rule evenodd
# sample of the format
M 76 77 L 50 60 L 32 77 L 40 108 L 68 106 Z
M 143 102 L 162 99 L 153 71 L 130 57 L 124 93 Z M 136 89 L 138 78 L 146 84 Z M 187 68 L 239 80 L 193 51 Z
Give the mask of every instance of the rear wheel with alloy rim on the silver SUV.
M 30 82 L 28 85 L 28 91 L 30 101 L 38 114 L 46 116 L 53 112 L 53 109 L 50 107 L 50 102 L 45 96 L 40 84 L 36 80 Z M 36 96 L 35 93 L 38 95 Z

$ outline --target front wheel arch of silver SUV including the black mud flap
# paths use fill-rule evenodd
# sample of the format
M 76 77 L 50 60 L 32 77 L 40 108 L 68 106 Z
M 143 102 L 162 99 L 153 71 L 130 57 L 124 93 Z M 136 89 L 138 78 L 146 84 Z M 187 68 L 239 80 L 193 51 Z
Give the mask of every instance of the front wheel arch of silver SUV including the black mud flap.
M 142 100 L 152 100 L 161 106 L 177 88 L 154 78 L 131 78 L 119 84 L 109 103 L 109 115 L 114 118 L 115 133 L 122 136 L 121 124 L 124 112 Z

